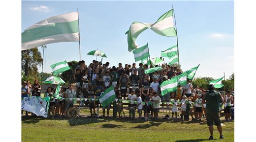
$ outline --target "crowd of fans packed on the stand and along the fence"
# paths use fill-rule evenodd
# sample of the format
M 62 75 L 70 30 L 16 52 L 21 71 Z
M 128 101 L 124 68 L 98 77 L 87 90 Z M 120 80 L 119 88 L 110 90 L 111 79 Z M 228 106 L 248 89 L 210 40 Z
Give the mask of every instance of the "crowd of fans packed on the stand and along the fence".
M 197 86 L 193 88 L 191 80 L 188 79 L 186 86 L 178 86 L 177 91 L 161 95 L 160 84 L 173 76 L 181 74 L 182 71 L 177 67 L 162 64 L 161 68 L 163 70 L 149 74 L 144 73 L 146 69 L 152 67 L 152 65 L 148 67 L 148 65 L 142 63 L 139 63 L 138 67 L 136 63 L 133 63 L 132 66 L 126 64 L 123 67 L 122 63 L 119 63 L 118 67 L 113 66 L 111 68 L 109 62 L 102 64 L 93 60 L 93 63 L 87 66 L 85 61 L 79 61 L 73 74 L 75 85 L 69 84 L 68 88 L 61 87 L 59 96 L 63 97 L 62 99 L 53 97 L 55 89 L 52 87 L 48 87 L 45 92 L 44 97 L 51 97 L 48 117 L 66 117 L 67 109 L 74 104 L 72 99 L 69 98 L 90 98 L 90 100 L 84 99 L 81 101 L 80 107 L 89 107 L 91 117 L 93 117 L 95 116 L 96 107 L 101 107 L 97 99 L 110 86 L 114 87 L 118 101 L 114 101 L 112 106 L 109 104 L 102 108 L 103 118 L 105 118 L 105 109 L 107 109 L 107 117 L 109 117 L 110 108 L 113 108 L 114 118 L 117 117 L 117 113 L 120 118 L 123 116 L 122 113 L 125 115 L 124 104 L 121 99 L 130 100 L 128 103 L 129 118 L 135 118 L 135 110 L 137 109 L 140 119 L 142 118 L 142 111 L 145 120 L 157 119 L 161 107 L 172 111 L 171 116 L 167 116 L 171 119 L 178 118 L 178 108 L 181 110 L 181 120 L 189 119 L 188 115 L 191 115 L 192 119 L 196 121 L 206 117 L 206 104 L 202 103 L 202 98 L 205 93 L 209 92 L 208 90 L 200 90 Z M 23 82 L 22 97 L 29 95 L 40 97 L 40 93 L 41 86 L 37 80 L 34 81 L 33 85 L 29 81 Z M 234 92 L 233 90 L 227 91 L 223 96 L 224 102 L 222 105 L 224 104 L 225 120 L 230 121 L 230 110 L 234 104 Z M 160 102 L 162 102 L 162 105 L 160 105 Z M 27 112 L 26 116 L 28 116 Z

